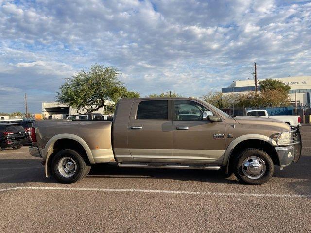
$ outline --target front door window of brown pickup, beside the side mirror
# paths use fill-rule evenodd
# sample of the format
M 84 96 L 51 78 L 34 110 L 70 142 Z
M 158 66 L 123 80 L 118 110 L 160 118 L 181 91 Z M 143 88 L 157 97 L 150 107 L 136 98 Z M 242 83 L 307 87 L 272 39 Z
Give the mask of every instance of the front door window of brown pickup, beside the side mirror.
M 176 120 L 203 120 L 203 112 L 209 111 L 201 104 L 190 100 L 174 100 Z

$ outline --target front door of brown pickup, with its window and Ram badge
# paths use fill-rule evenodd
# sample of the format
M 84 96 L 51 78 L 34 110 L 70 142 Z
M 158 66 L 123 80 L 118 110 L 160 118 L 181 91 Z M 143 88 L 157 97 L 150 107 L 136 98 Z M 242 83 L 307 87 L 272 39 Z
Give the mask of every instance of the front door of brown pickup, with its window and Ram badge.
M 203 120 L 210 111 L 194 100 L 173 101 L 173 159 L 220 163 L 225 153 L 226 127 L 223 122 Z M 215 115 L 215 113 L 213 113 Z

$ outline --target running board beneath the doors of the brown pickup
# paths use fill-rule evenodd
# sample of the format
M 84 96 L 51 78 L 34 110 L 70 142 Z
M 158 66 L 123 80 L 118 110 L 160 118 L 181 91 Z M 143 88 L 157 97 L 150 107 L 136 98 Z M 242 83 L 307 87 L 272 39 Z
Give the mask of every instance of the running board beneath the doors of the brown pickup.
M 187 165 L 151 165 L 151 164 L 121 164 L 120 167 L 135 168 L 170 168 L 170 169 L 197 169 L 197 170 L 219 170 L 221 166 L 187 166 Z

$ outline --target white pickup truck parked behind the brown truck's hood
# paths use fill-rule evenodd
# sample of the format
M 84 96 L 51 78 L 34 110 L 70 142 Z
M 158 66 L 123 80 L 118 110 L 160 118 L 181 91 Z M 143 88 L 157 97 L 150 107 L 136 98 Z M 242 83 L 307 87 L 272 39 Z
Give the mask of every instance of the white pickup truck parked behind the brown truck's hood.
M 247 110 L 247 116 L 258 116 L 258 117 L 265 117 L 265 118 L 272 118 L 279 121 L 283 121 L 292 126 L 301 126 L 301 118 L 298 115 L 275 115 L 269 116 L 267 110 L 263 109 L 255 109 L 255 110 Z

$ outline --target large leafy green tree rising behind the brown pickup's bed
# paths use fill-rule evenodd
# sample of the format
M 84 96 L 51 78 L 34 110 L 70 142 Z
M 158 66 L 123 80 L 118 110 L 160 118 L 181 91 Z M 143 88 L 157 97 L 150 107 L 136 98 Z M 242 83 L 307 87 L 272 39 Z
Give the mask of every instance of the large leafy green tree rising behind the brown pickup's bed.
M 115 67 L 92 65 L 88 71 L 82 69 L 71 78 L 66 78 L 56 101 L 77 109 L 77 113 L 91 113 L 104 106 L 114 105 L 120 98 L 137 97 L 137 92 L 127 91 L 119 80 Z

